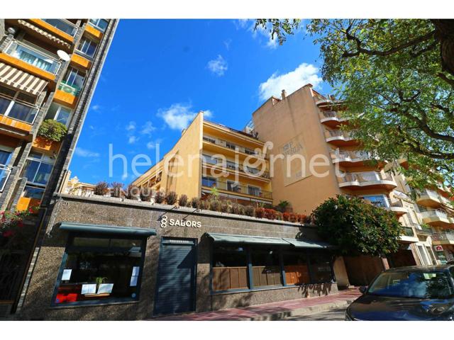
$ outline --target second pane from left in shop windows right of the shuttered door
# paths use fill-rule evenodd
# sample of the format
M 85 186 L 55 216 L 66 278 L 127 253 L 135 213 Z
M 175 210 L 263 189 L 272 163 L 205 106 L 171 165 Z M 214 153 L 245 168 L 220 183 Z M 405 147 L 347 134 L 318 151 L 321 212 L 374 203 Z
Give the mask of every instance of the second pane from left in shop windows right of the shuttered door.
M 263 287 L 282 285 L 282 271 L 276 248 L 252 249 L 253 285 Z

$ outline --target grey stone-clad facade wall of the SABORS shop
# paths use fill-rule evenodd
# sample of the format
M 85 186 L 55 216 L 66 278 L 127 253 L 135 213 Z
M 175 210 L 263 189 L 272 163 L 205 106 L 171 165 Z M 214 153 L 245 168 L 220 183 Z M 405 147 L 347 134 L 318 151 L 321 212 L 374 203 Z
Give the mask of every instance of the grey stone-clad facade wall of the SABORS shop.
M 159 207 L 159 208 L 158 208 Z M 317 239 L 314 228 L 301 227 L 290 222 L 260 220 L 217 212 L 194 212 L 191 208 L 172 210 L 170 206 L 149 203 L 124 203 L 61 195 L 53 206 L 46 237 L 35 265 L 21 319 L 147 319 L 153 317 L 153 299 L 157 274 L 157 260 L 161 237 L 187 237 L 198 240 L 196 272 L 196 311 L 208 311 L 257 305 L 279 300 L 292 300 L 312 295 L 337 293 L 336 283 L 284 287 L 242 293 L 211 295 L 209 285 L 210 240 L 202 237 L 205 232 L 245 234 L 267 237 L 294 238 L 302 232 L 304 238 Z M 195 220 L 201 228 L 168 226 L 160 227 L 160 217 Z M 156 236 L 148 238 L 140 300 L 116 305 L 50 307 L 67 241 L 67 232 L 60 231 L 60 222 L 78 222 L 99 225 L 117 225 L 154 228 Z

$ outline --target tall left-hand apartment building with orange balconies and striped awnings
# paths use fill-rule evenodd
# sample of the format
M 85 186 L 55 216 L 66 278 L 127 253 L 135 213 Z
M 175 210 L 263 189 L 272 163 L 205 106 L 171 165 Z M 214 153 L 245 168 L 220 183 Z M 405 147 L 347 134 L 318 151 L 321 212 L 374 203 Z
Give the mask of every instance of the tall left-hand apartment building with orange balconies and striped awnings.
M 62 185 L 118 20 L 0 20 L 0 210 L 45 208 Z M 46 124 L 66 133 L 50 139 Z M 35 241 L 39 243 L 39 235 Z M 35 244 L 33 242 L 33 244 Z M 11 255 L 13 256 L 13 255 Z M 10 257 L 11 257 L 10 256 Z M 17 305 L 28 250 L 0 257 L 0 302 Z M 9 271 L 6 262 L 18 267 Z

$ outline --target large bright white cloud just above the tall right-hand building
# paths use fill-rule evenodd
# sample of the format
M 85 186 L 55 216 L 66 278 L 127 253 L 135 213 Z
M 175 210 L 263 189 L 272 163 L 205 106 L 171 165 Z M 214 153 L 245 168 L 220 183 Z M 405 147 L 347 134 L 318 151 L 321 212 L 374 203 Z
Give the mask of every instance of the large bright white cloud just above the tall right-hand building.
M 278 75 L 275 72 L 267 81 L 260 84 L 260 99 L 266 101 L 271 96 L 280 96 L 282 90 L 287 91 L 287 95 L 289 95 L 308 83 L 316 87 L 322 81 L 318 72 L 319 69 L 317 67 L 313 64 L 306 64 L 305 62 L 286 74 Z

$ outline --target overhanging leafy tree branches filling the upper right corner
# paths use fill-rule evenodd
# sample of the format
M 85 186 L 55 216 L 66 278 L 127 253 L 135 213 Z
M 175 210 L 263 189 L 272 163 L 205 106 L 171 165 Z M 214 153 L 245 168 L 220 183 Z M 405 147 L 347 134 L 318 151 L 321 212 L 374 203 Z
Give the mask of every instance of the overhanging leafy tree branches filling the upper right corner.
M 279 43 L 299 20 L 259 19 Z M 348 106 L 352 129 L 418 188 L 454 184 L 454 21 L 312 20 L 323 79 Z M 397 162 L 396 162 L 397 164 Z

